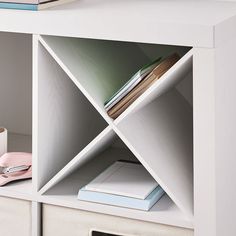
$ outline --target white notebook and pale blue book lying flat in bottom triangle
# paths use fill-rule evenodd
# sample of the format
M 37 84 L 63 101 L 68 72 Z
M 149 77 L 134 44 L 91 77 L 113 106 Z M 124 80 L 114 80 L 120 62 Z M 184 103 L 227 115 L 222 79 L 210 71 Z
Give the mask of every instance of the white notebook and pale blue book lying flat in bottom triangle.
M 140 163 L 117 161 L 80 189 L 78 199 L 148 211 L 164 193 Z

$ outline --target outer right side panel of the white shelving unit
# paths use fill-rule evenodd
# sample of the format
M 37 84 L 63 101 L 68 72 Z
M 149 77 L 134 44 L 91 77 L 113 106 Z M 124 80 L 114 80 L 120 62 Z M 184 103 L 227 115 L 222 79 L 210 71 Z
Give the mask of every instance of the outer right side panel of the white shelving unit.
M 216 235 L 236 234 L 236 37 L 215 49 Z

